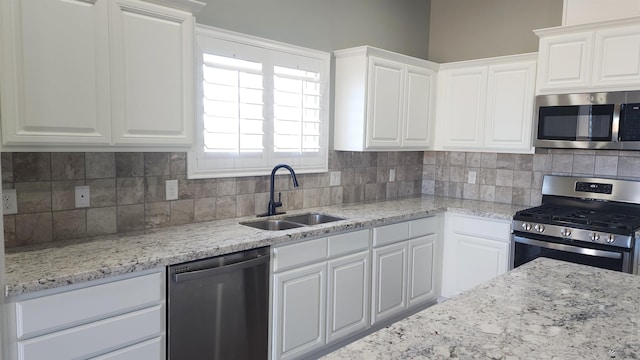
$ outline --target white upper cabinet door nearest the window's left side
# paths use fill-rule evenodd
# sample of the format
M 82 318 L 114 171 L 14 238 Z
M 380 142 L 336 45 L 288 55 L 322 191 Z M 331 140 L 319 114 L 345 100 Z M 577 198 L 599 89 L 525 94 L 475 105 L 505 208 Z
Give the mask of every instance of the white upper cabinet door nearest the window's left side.
M 193 16 L 139 0 L 110 3 L 116 144 L 191 144 Z

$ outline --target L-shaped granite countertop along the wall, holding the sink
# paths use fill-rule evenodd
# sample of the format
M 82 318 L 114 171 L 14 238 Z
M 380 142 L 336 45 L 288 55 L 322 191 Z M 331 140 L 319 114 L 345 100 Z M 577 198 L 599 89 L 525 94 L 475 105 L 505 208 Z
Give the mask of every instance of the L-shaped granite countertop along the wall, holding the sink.
M 284 231 L 264 231 L 238 224 L 256 219 L 245 217 L 7 249 L 5 295 L 16 296 L 444 211 L 511 219 L 522 208 L 483 201 L 420 196 L 290 212 L 321 212 L 346 220 Z

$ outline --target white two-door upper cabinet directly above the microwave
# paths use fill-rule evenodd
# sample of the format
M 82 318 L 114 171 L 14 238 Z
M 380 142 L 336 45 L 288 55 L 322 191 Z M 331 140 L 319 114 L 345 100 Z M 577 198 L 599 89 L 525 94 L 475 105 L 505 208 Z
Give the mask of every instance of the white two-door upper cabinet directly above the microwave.
M 536 30 L 537 94 L 640 86 L 639 18 Z

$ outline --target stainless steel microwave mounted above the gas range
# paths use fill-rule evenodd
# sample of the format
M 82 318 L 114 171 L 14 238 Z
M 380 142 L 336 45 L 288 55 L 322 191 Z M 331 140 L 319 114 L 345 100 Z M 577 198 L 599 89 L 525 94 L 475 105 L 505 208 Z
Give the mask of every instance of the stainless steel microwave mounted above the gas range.
M 538 95 L 535 147 L 640 150 L 640 91 Z

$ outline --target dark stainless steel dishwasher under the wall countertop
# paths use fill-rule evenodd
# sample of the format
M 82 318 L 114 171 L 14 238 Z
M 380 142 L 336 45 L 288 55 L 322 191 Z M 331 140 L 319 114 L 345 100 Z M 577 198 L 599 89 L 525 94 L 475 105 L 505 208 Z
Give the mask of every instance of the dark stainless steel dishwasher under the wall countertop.
M 170 360 L 267 359 L 269 248 L 169 266 Z

